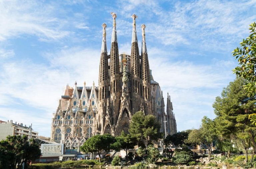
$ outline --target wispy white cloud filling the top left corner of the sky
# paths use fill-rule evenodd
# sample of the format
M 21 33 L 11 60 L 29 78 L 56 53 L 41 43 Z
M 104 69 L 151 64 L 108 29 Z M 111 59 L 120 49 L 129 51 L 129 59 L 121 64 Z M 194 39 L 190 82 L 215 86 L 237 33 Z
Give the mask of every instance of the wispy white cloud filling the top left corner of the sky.
M 74 13 L 73 17 L 67 16 L 70 14 L 69 10 L 63 10 L 61 5 L 63 3 L 45 4 L 40 1 L 26 0 L 0 1 L 0 23 L 4 23 L 0 27 L 0 41 L 23 34 L 35 35 L 41 41 L 58 40 L 74 36 L 72 29 L 89 28 L 84 24 L 87 18 L 84 14 Z M 73 3 L 67 3 L 67 9 L 68 5 L 73 5 Z M 88 9 L 88 5 L 83 7 Z

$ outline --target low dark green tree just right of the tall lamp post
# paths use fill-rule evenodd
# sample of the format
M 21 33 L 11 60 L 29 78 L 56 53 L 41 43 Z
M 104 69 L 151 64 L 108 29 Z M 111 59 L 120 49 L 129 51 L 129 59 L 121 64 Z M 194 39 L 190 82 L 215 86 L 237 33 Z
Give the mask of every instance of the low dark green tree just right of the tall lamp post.
M 188 134 L 190 133 L 190 131 L 191 130 L 186 130 L 186 131 L 175 133 L 173 135 L 167 135 L 164 139 L 164 144 L 167 147 L 170 147 L 171 144 L 174 144 L 177 147 L 190 146 L 191 144 L 187 142 Z

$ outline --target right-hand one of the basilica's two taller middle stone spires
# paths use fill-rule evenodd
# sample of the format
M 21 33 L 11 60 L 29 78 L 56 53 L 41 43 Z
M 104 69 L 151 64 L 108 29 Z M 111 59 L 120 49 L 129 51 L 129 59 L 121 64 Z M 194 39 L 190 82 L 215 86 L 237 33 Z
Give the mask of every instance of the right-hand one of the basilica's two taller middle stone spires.
M 132 31 L 132 49 L 131 49 L 131 74 L 134 77 L 140 78 L 140 60 L 139 60 L 139 47 L 136 34 L 136 21 L 137 16 L 132 15 L 133 18 L 133 31 Z

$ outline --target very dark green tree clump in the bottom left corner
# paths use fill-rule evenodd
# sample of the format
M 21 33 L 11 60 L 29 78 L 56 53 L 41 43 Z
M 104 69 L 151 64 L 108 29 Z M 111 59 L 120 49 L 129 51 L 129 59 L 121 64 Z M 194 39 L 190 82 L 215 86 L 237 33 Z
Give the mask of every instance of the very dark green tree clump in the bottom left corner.
M 28 140 L 27 136 L 7 136 L 6 140 L 0 142 L 0 168 L 18 169 L 25 168 L 31 160 L 38 159 L 41 155 L 39 146 L 33 139 Z

